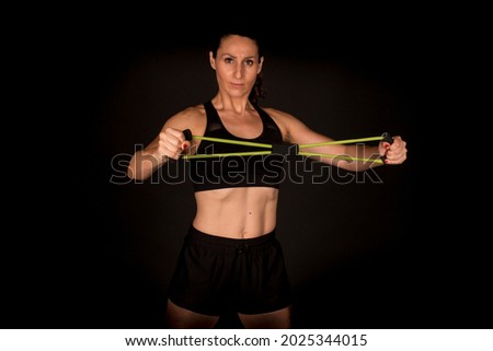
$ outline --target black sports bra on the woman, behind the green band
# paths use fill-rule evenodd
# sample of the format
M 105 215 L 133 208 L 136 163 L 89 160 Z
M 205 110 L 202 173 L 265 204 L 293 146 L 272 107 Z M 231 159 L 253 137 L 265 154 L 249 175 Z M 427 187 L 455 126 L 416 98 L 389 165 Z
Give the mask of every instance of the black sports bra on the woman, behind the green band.
M 229 140 L 250 141 L 266 144 L 282 144 L 283 136 L 279 127 L 268 114 L 257 105 L 263 130 L 254 139 L 243 139 L 231 134 L 222 124 L 216 108 L 210 101 L 204 104 L 207 127 L 204 137 Z M 251 151 L 273 151 L 268 148 L 237 145 L 202 140 L 197 154 L 236 153 Z M 248 155 L 205 157 L 190 160 L 190 177 L 195 191 L 232 188 L 232 187 L 273 187 L 278 188 L 286 177 L 284 169 L 285 155 Z

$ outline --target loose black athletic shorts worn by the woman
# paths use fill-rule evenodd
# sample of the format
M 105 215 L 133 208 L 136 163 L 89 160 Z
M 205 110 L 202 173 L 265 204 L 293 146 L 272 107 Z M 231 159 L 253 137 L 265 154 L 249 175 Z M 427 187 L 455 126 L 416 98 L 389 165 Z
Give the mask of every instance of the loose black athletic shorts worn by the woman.
M 228 238 L 190 229 L 171 280 L 170 300 L 195 313 L 262 314 L 291 304 L 275 232 Z

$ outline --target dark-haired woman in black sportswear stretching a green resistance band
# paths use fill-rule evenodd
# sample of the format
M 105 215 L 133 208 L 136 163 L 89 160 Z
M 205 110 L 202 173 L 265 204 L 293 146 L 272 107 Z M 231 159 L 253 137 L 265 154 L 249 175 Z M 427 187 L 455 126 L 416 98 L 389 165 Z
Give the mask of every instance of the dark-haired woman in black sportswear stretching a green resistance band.
M 244 141 L 297 145 L 332 139 L 290 114 L 256 104 L 264 57 L 254 37 L 236 33 L 221 36 L 209 60 L 216 71 L 216 95 L 170 117 L 159 136 L 133 155 L 127 172 L 130 178 L 147 179 L 169 160 L 184 155 L 193 165 L 197 211 L 172 278 L 167 323 L 171 328 L 211 328 L 221 314 L 234 312 L 245 328 L 289 328 L 291 296 L 275 234 L 280 165 L 289 148 L 284 154 L 272 149 L 267 156 L 200 160 L 193 155 L 259 150 L 244 145 Z M 195 137 L 241 144 L 190 140 L 185 130 Z M 385 156 L 390 165 L 406 159 L 405 141 L 400 137 L 374 147 L 325 144 L 309 151 L 369 160 Z M 320 161 L 354 172 L 382 164 L 344 157 Z

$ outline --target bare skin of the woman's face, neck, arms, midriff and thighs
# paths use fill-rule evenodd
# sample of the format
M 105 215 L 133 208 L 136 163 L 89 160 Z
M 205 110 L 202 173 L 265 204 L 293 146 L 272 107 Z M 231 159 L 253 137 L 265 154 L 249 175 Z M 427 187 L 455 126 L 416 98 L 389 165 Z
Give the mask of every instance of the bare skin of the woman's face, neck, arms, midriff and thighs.
M 232 134 L 253 139 L 262 133 L 262 120 L 249 102 L 256 75 L 262 71 L 264 59 L 259 57 L 254 40 L 238 35 L 222 39 L 216 52 L 209 52 L 211 68 L 216 71 L 218 92 L 213 98 L 222 124 Z M 333 139 L 308 128 L 297 117 L 265 107 L 265 112 L 279 127 L 284 141 L 288 143 L 314 143 Z M 193 134 L 203 136 L 206 129 L 206 114 L 203 105 L 188 107 L 170 117 L 160 133 L 144 150 L 136 152 L 129 163 L 127 175 L 134 179 L 146 179 L 170 159 L 177 160 L 183 153 L 194 153 L 199 141 L 185 141 L 182 130 L 191 129 Z M 305 150 L 303 150 L 305 151 Z M 306 151 L 340 154 L 358 157 L 385 155 L 387 164 L 401 164 L 406 159 L 406 143 L 401 137 L 393 137 L 393 143 L 380 142 L 367 145 L 324 145 Z M 381 164 L 349 162 L 322 157 L 324 162 L 344 169 L 362 172 Z M 268 187 L 226 188 L 195 194 L 197 204 L 193 225 L 214 235 L 232 238 L 251 238 L 264 235 L 276 226 L 278 189 Z M 234 221 L 231 219 L 234 218 Z M 168 303 L 168 323 L 177 328 L 214 327 L 218 317 L 203 316 Z M 239 315 L 246 328 L 289 328 L 290 307 L 262 315 Z

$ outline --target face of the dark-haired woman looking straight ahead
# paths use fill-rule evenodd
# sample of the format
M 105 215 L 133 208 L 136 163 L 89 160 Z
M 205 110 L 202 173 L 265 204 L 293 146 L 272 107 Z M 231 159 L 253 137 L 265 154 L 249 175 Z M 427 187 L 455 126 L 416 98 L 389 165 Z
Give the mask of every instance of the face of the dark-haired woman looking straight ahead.
M 216 70 L 219 90 L 232 97 L 248 97 L 263 62 L 255 42 L 229 35 L 222 38 L 216 58 L 213 54 L 209 54 L 210 66 Z

